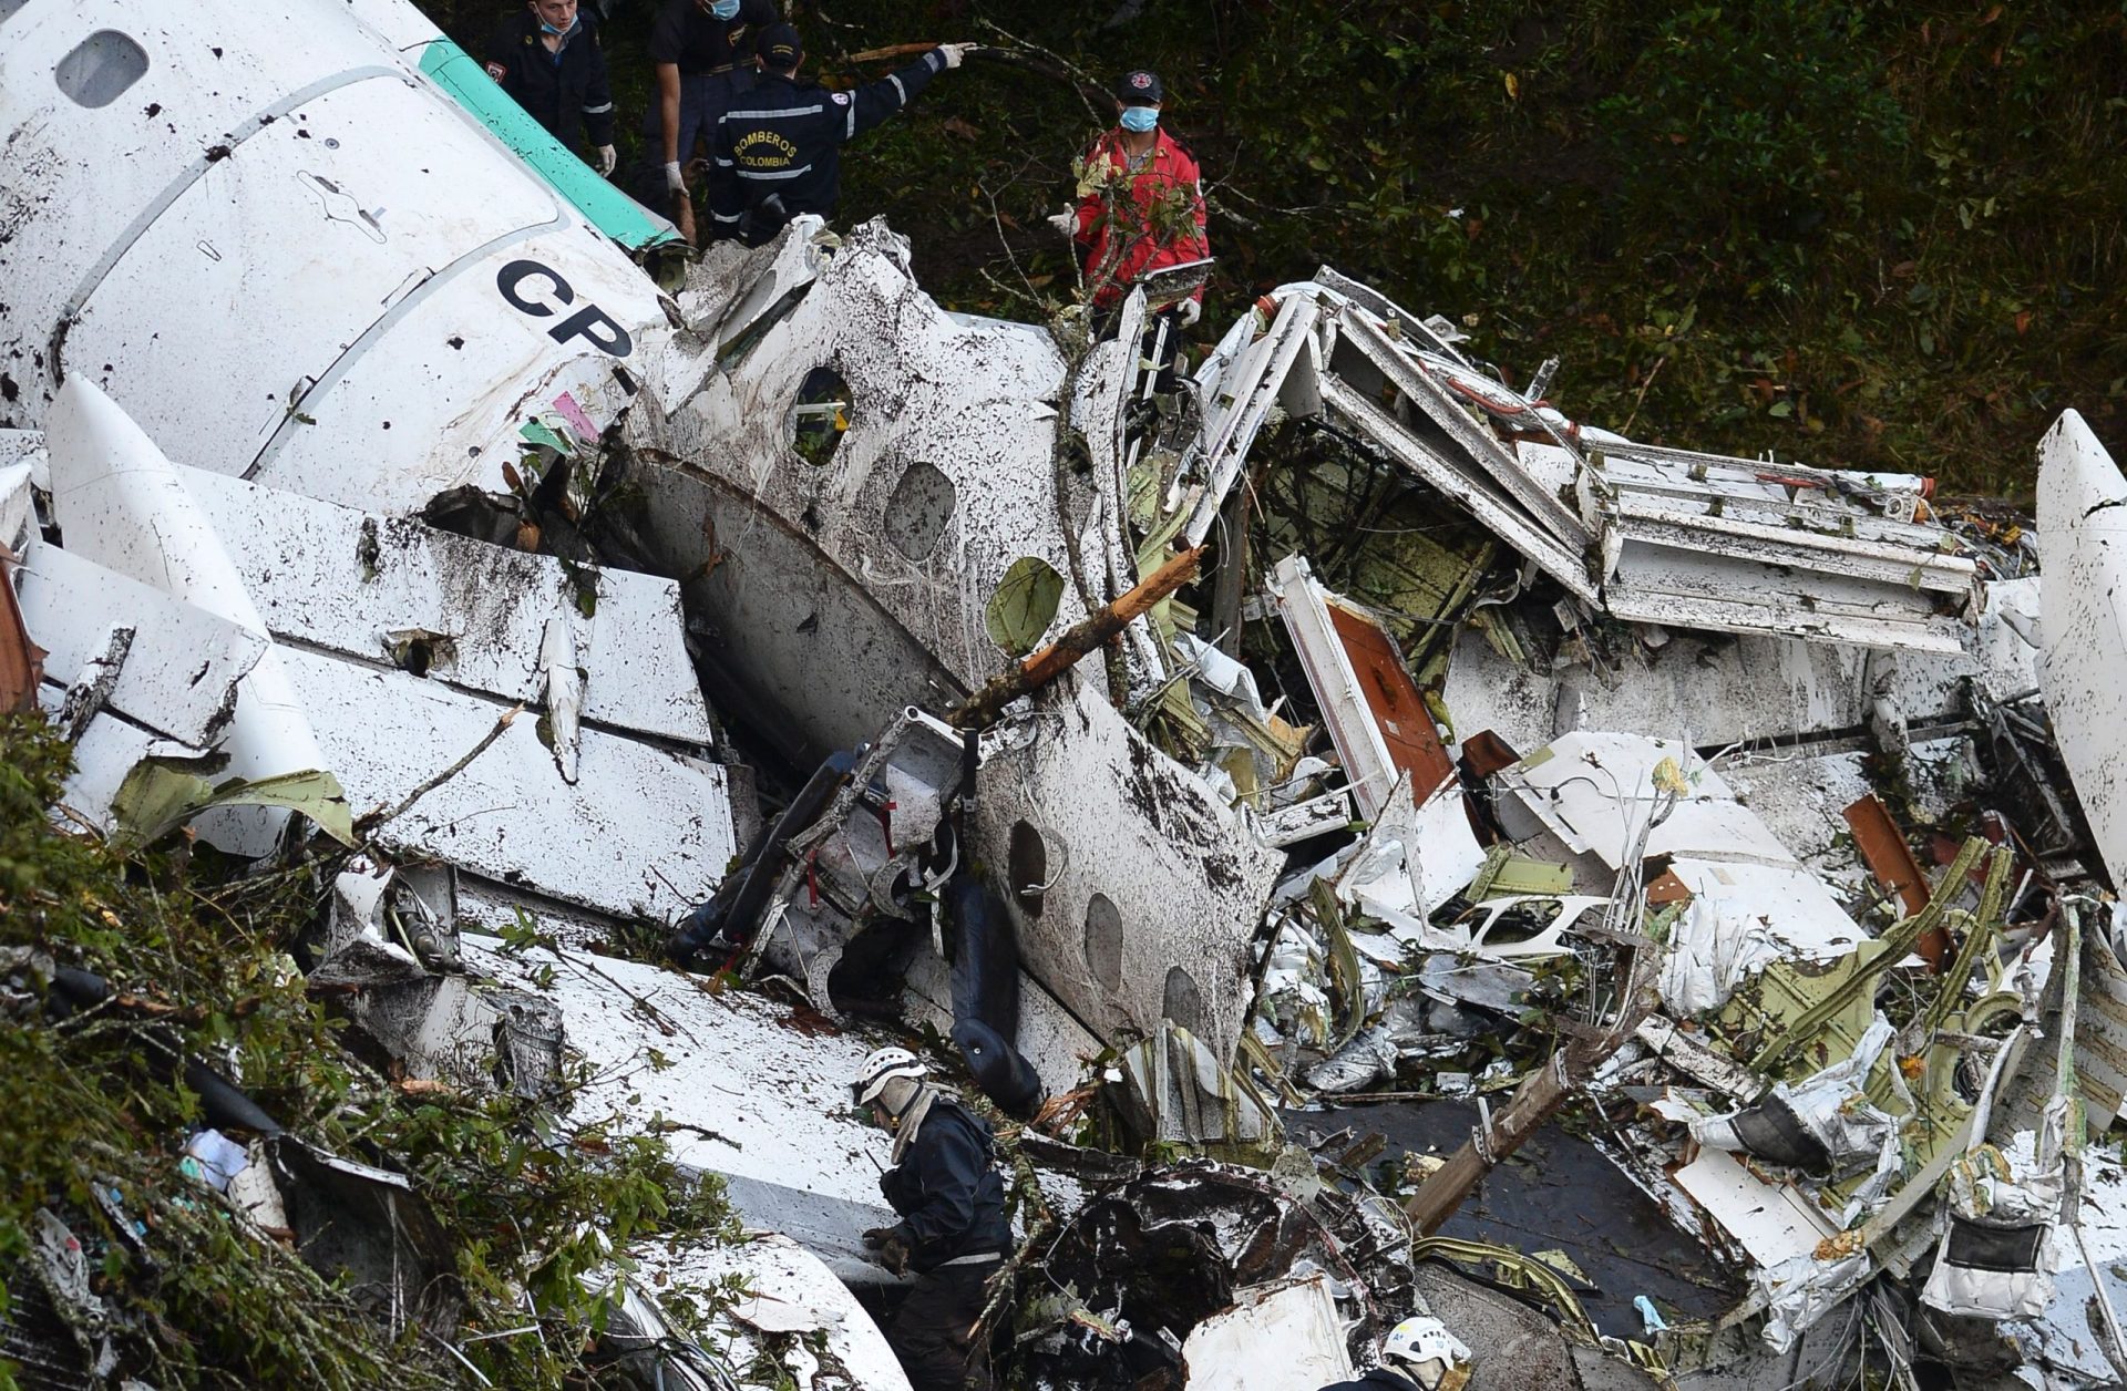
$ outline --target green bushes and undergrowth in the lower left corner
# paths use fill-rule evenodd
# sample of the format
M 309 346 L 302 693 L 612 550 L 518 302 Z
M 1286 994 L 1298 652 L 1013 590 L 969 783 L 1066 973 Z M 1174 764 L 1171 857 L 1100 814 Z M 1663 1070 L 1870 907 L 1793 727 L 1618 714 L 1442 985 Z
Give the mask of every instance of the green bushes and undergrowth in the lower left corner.
M 68 757 L 40 717 L 0 717 L 0 1272 L 15 1293 L 49 1208 L 89 1253 L 121 1370 L 157 1387 L 466 1385 L 468 1361 L 498 1387 L 581 1380 L 623 1246 L 721 1229 L 721 1191 L 644 1127 L 364 1066 L 289 957 L 338 857 L 232 878 L 204 849 L 117 855 L 47 821 Z M 91 970 L 117 998 L 53 1019 L 53 968 Z M 177 1053 L 304 1140 L 413 1178 L 455 1251 L 462 1353 L 181 1172 L 200 1097 L 172 1076 Z

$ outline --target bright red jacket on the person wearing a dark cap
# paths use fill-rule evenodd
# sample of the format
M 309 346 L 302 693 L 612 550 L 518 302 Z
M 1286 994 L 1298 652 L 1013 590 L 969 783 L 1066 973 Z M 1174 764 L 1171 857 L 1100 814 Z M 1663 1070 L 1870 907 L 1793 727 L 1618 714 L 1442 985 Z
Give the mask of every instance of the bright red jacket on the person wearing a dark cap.
M 1140 274 L 1210 255 L 1202 174 L 1195 157 L 1166 128 L 1153 130 L 1153 149 L 1136 172 L 1123 153 L 1123 132 L 1102 134 L 1085 153 L 1081 187 L 1087 185 L 1091 191 L 1078 200 L 1076 240 L 1087 253 L 1085 279 L 1093 285 L 1095 308 L 1119 302 Z M 1183 200 L 1178 221 L 1189 230 L 1176 234 L 1176 219 L 1163 217 L 1170 232 L 1163 236 L 1153 225 L 1153 208 L 1174 200 L 1176 189 Z M 1202 300 L 1204 291 L 1191 298 Z

